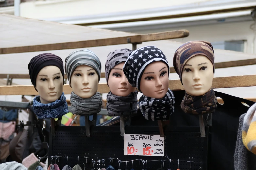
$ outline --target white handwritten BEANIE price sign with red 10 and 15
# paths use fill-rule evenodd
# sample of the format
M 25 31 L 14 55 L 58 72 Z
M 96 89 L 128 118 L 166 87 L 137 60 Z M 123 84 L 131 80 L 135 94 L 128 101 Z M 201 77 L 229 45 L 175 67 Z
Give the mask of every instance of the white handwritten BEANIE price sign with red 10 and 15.
M 164 137 L 124 134 L 124 155 L 164 156 Z

